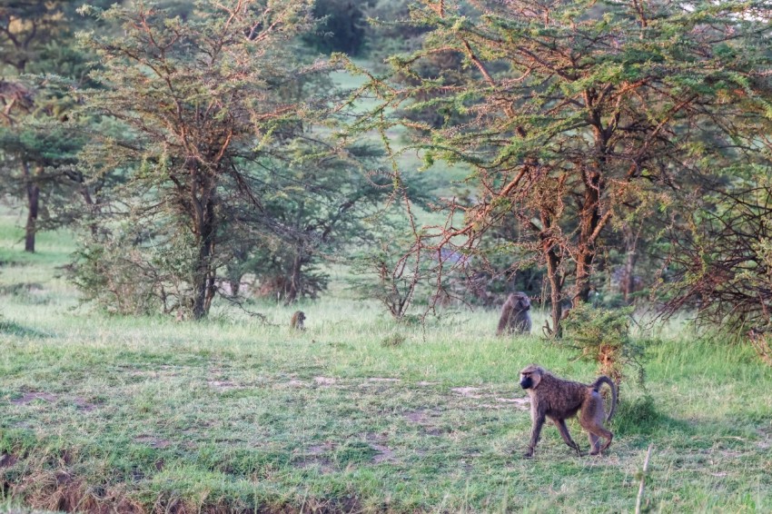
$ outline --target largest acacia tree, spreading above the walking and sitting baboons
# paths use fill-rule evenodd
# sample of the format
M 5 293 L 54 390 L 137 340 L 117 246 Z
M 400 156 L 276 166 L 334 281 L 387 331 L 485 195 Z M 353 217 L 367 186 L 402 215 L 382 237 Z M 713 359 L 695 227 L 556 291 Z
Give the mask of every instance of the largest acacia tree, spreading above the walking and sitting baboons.
M 615 221 L 667 206 L 718 157 L 754 152 L 747 120 L 765 115 L 769 66 L 752 49 L 768 43 L 768 7 L 425 0 L 411 11 L 431 27 L 423 48 L 391 56 L 394 76 L 408 80 L 371 75 L 361 91 L 383 104 L 355 128 L 403 124 L 406 150 L 470 166 L 475 202 L 450 200 L 449 222 L 416 248 L 473 252 L 489 227 L 516 225 L 511 258 L 546 267 L 554 331 L 565 292 L 587 299 Z M 448 52 L 462 59 L 453 84 L 421 73 Z M 448 122 L 386 116 L 394 105 L 447 112 Z

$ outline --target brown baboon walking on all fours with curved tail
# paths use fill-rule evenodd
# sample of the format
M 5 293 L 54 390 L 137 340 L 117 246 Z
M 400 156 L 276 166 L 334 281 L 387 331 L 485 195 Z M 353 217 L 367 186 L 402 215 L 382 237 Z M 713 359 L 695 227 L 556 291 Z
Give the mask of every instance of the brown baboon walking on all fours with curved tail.
M 601 384 L 609 384 L 611 388 L 611 409 L 606 416 L 603 408 L 603 398 L 599 389 Z M 603 426 L 611 419 L 617 406 L 617 385 L 606 376 L 600 376 L 591 384 L 559 379 L 536 364 L 531 364 L 520 371 L 520 387 L 528 390 L 530 396 L 530 417 L 533 426 L 530 432 L 530 443 L 525 457 L 533 457 L 533 450 L 539 442 L 541 427 L 546 418 L 552 420 L 560 430 L 560 436 L 570 448 L 581 455 L 579 445 L 571 439 L 566 420 L 576 415 L 578 410 L 579 425 L 588 431 L 590 455 L 597 455 L 606 450 L 614 437 Z M 603 448 L 599 448 L 599 438 L 606 440 Z

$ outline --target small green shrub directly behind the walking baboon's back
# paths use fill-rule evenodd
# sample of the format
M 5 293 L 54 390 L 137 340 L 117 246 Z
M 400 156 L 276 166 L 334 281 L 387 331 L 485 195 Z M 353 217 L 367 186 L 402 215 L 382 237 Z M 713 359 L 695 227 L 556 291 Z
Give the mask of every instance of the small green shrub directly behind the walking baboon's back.
M 599 372 L 621 383 L 631 368 L 638 384 L 644 383 L 645 348 L 630 337 L 634 307 L 594 309 L 580 303 L 564 321 L 563 344 L 579 351 L 579 359 L 595 362 Z

